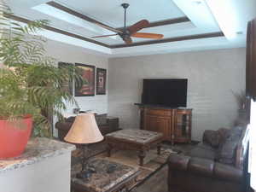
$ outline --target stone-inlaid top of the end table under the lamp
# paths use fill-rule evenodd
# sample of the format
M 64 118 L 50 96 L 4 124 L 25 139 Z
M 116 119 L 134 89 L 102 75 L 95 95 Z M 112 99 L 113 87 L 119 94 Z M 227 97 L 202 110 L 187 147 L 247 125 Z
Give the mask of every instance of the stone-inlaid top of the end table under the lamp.
M 87 179 L 73 177 L 72 182 L 83 186 L 84 191 L 90 192 L 106 192 L 139 172 L 137 167 L 126 166 L 104 158 L 90 160 L 86 167 L 94 167 L 96 172 Z M 109 172 L 109 169 L 112 169 L 112 172 Z

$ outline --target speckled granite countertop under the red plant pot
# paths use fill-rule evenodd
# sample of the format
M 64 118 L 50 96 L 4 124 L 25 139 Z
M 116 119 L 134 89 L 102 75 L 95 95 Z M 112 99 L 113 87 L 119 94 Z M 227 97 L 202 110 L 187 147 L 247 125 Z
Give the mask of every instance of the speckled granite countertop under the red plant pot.
M 25 152 L 19 157 L 0 159 L 0 173 L 20 169 L 49 157 L 73 151 L 75 148 L 73 144 L 63 143 L 54 139 L 44 137 L 32 138 L 27 143 Z

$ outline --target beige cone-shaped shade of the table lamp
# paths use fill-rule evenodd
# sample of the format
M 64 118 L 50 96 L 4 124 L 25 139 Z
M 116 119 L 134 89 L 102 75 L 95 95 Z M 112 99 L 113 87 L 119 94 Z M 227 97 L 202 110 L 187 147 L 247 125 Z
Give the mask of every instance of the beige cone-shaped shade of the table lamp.
M 97 143 L 103 140 L 93 113 L 81 113 L 73 122 L 64 140 L 68 143 Z

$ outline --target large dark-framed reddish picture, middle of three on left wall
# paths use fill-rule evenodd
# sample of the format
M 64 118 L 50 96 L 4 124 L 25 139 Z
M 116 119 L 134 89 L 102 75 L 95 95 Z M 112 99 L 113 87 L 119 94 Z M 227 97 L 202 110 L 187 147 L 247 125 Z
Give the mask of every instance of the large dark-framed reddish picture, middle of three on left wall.
M 76 67 L 87 84 L 75 87 L 75 96 L 95 96 L 95 66 L 76 63 Z

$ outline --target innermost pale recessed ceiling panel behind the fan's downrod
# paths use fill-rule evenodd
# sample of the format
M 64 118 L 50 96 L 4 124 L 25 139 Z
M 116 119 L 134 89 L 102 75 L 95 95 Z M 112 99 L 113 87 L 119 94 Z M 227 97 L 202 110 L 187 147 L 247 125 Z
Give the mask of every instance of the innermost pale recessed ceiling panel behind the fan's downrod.
M 120 6 L 121 3 L 130 3 L 127 9 L 128 26 L 143 19 L 153 22 L 185 16 L 172 0 L 58 0 L 55 2 L 113 27 L 124 25 L 124 9 Z

